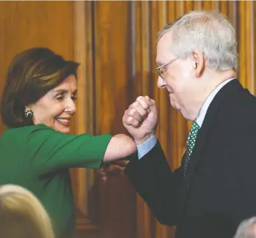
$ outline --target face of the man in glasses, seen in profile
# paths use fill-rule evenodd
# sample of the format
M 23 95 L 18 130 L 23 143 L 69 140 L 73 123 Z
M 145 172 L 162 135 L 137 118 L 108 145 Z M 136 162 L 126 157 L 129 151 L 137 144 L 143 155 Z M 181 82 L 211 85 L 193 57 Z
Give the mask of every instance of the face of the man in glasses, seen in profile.
M 167 32 L 158 41 L 156 56 L 158 66 L 177 58 L 171 51 L 171 33 Z M 180 111 L 186 119 L 191 119 L 192 104 L 197 92 L 194 67 L 195 62 L 191 57 L 187 59 L 178 58 L 162 69 L 165 71 L 164 78 L 158 76 L 158 88 L 167 89 L 172 107 Z

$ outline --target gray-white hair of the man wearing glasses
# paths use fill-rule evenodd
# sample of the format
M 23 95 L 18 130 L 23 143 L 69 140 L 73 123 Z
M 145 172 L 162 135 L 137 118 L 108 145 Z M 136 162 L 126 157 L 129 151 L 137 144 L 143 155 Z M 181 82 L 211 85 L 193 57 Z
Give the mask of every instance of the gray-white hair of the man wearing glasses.
M 209 67 L 219 70 L 238 68 L 235 29 L 219 12 L 192 11 L 167 24 L 158 32 L 158 40 L 172 31 L 172 53 L 186 59 L 200 51 Z

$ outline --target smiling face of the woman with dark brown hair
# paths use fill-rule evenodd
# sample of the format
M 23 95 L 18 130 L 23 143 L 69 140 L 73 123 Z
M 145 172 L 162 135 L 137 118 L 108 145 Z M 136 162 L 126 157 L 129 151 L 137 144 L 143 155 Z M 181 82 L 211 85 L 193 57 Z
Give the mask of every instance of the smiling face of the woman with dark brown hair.
M 76 77 L 69 75 L 59 86 L 26 109 L 33 111 L 34 124 L 46 124 L 60 133 L 70 133 L 70 119 L 76 113 L 76 92 Z

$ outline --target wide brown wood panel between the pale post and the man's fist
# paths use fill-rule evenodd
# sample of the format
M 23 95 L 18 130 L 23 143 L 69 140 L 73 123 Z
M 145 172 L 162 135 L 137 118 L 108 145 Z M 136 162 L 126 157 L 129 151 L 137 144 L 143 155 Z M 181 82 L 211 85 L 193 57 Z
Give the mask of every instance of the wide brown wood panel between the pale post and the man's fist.
M 95 134 L 126 133 L 122 115 L 134 100 L 131 71 L 131 4 L 95 1 Z M 125 176 L 95 185 L 101 237 L 134 237 L 135 192 Z

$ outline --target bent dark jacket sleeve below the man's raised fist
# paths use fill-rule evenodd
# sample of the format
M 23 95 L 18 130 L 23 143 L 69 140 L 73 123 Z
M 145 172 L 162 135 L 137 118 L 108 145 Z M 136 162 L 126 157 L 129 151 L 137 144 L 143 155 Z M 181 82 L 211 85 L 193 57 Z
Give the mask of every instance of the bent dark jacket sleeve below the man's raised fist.
M 159 142 L 140 160 L 138 157 L 131 158 L 125 173 L 158 221 L 174 226 L 183 175 L 181 168 L 174 172 L 170 170 Z

